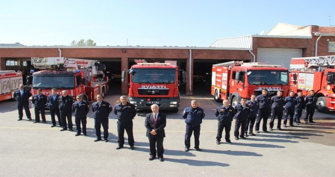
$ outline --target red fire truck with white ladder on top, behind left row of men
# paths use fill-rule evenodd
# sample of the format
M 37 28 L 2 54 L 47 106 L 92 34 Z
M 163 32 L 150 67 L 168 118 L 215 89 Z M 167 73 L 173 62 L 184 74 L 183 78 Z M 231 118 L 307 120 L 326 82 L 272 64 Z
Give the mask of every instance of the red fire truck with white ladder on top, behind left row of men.
M 48 96 L 54 88 L 58 94 L 66 90 L 74 98 L 83 94 L 85 101 L 93 101 L 98 94 L 104 97 L 108 90 L 108 77 L 103 72 L 106 67 L 98 61 L 48 57 L 31 58 L 31 64 L 43 69 L 32 71 L 31 94 L 42 89 L 42 94 Z

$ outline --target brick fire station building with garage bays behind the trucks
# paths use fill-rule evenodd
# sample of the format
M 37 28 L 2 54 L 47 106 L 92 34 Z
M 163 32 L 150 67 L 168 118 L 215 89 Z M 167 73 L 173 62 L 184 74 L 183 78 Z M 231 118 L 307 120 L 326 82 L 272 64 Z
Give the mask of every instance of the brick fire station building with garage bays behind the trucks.
M 291 58 L 335 55 L 335 27 L 296 26 L 279 23 L 265 35 L 246 35 L 217 39 L 209 47 L 145 46 L 23 46 L 0 44 L 0 70 L 21 70 L 31 57 L 68 57 L 98 60 L 106 65 L 113 85 L 112 94 L 127 94 L 121 83 L 123 70 L 135 59 L 147 62 L 175 60 L 187 72 L 187 82 L 180 85 L 181 94 L 210 95 L 213 64 L 241 60 L 266 62 L 289 68 Z M 25 72 L 25 71 L 24 71 Z

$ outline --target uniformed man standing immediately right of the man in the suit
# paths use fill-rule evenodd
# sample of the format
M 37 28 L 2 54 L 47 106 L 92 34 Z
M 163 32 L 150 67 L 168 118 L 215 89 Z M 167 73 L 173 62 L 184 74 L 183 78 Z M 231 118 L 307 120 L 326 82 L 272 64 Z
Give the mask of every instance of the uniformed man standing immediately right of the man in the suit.
M 191 101 L 191 106 L 184 109 L 183 118 L 186 123 L 185 132 L 185 152 L 189 151 L 191 146 L 191 136 L 194 131 L 194 149 L 201 151 L 199 148 L 199 136 L 200 136 L 200 124 L 203 122 L 205 117 L 204 109 L 198 107 L 196 100 Z

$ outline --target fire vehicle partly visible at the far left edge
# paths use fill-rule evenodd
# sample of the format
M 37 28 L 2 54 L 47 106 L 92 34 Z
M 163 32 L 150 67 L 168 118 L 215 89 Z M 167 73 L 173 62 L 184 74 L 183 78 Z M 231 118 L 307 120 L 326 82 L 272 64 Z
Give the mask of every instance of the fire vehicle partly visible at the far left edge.
M 0 101 L 12 99 L 22 83 L 22 72 L 0 71 Z

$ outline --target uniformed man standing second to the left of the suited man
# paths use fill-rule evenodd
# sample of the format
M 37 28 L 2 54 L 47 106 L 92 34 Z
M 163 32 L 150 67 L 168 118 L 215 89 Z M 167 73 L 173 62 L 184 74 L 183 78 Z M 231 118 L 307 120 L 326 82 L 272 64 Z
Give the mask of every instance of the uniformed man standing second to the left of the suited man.
M 102 95 L 96 96 L 96 102 L 92 103 L 92 111 L 94 118 L 94 128 L 96 139 L 94 142 L 101 140 L 101 126 L 104 128 L 104 141 L 108 142 L 108 123 L 109 123 L 109 113 L 113 110 L 112 106 L 103 101 Z

